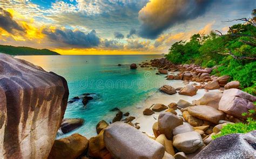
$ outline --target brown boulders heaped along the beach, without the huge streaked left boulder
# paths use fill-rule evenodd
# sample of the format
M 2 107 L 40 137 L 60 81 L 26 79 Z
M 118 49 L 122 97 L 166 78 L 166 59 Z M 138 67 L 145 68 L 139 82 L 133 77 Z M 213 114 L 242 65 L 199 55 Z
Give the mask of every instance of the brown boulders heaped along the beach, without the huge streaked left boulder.
M 123 113 L 118 108 L 113 109 L 112 111 L 117 112 L 116 116 L 111 123 L 99 121 L 96 126 L 97 136 L 89 140 L 80 139 L 81 141 L 78 142 L 80 147 L 77 148 L 76 156 L 80 158 L 235 158 L 247 156 L 250 158 L 256 155 L 252 147 L 256 143 L 255 131 L 248 134 L 227 135 L 212 140 L 212 136 L 219 134 L 223 126 L 244 121 L 245 118 L 241 116 L 241 113 L 253 109 L 256 97 L 239 90 L 239 82 L 228 82 L 230 78 L 228 76 L 210 76 L 212 68 L 203 69 L 194 65 L 176 66 L 165 59 L 145 63 L 139 66 L 157 67 L 158 74 L 167 75 L 168 80 L 178 79 L 186 83 L 184 88 L 163 85 L 159 89 L 160 92 L 170 96 L 176 93 L 183 96 L 195 96 L 199 89 L 205 89 L 207 92 L 192 103 L 180 99 L 177 103 L 169 105 L 157 103 L 146 108 L 143 111 L 144 115 L 160 113 L 157 122 L 152 126 L 154 136 L 140 132 L 138 123 L 132 123 L 135 118 L 129 117 L 129 113 Z M 172 74 L 174 72 L 178 74 Z M 217 91 L 208 91 L 214 89 Z M 80 137 L 78 134 L 75 135 Z M 64 140 L 72 139 L 75 139 L 73 135 L 60 140 L 64 142 Z M 86 147 L 84 147 L 85 144 L 87 144 Z M 245 148 L 241 148 L 240 144 Z M 224 148 L 229 145 L 232 147 L 228 150 Z M 63 151 L 56 147 L 53 146 L 54 150 L 59 152 L 53 153 L 52 150 L 51 154 Z M 235 147 L 241 149 L 235 149 Z M 83 153 L 80 148 L 84 149 Z M 69 156 L 69 158 L 72 157 Z

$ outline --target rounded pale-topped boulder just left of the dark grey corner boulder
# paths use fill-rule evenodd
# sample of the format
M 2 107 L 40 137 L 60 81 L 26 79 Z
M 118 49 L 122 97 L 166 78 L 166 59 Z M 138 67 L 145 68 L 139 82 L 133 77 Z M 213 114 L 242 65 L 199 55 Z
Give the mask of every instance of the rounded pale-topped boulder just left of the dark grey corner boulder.
M 173 136 L 173 146 L 185 154 L 190 154 L 204 146 L 201 135 L 195 131 Z

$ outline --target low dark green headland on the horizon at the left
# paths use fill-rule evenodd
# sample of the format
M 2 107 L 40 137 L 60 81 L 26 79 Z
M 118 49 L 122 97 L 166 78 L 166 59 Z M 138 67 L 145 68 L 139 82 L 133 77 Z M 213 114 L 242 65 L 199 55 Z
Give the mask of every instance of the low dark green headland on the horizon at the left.
M 36 49 L 31 47 L 15 47 L 0 45 L 0 53 L 9 55 L 59 55 L 49 49 Z

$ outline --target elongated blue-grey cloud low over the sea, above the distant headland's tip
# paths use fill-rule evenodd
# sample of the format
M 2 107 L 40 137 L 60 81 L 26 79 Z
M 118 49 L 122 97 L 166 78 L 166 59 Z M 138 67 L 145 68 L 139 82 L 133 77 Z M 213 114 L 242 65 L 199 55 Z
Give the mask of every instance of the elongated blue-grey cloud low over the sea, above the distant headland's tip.
M 59 46 L 69 45 L 68 47 L 91 48 L 97 47 L 100 44 L 100 39 L 97 37 L 95 30 L 87 34 L 69 29 L 43 30 L 43 33 Z

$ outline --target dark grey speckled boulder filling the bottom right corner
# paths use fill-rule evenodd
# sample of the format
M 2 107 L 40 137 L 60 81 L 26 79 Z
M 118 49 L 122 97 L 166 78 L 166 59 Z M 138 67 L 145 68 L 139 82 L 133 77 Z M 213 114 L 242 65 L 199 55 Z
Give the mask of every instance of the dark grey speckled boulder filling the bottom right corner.
M 255 158 L 256 131 L 229 134 L 213 140 L 194 158 Z

